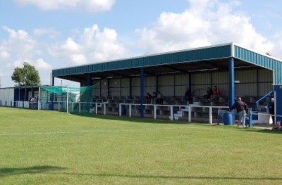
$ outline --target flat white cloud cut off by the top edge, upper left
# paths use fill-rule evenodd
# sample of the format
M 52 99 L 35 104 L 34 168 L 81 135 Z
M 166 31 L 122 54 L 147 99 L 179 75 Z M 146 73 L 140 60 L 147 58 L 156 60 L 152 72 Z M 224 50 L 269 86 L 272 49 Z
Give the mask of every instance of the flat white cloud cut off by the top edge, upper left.
M 90 12 L 109 11 L 114 5 L 115 0 L 14 0 L 18 4 L 32 4 L 42 10 L 55 9 L 82 9 Z

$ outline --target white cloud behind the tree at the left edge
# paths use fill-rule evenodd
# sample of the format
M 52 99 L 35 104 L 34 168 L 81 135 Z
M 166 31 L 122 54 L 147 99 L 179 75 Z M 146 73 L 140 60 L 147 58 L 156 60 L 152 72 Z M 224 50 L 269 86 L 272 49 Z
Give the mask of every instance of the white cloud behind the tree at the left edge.
M 46 46 L 42 40 L 36 40 L 25 30 L 13 30 L 6 26 L 2 28 L 8 33 L 8 37 L 1 40 L 0 45 L 1 75 L 5 77 L 5 82 L 2 84 L 5 87 L 13 87 L 11 81 L 13 70 L 16 67 L 22 68 L 23 63 L 35 66 L 40 77 L 42 72 L 51 72 L 51 65 L 44 61 L 46 59 L 40 58 L 40 56 L 47 57 L 44 55 L 46 52 L 42 51 Z

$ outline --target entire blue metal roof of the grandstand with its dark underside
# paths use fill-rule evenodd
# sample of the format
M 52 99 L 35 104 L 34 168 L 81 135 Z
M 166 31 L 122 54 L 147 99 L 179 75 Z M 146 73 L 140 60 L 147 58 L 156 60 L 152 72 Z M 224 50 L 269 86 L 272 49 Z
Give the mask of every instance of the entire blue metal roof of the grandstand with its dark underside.
M 129 70 L 133 69 L 138 73 L 139 71 L 136 70 L 138 68 L 147 68 L 147 71 L 154 68 L 154 71 L 149 71 L 151 74 L 157 74 L 157 71 L 167 70 L 168 68 L 182 72 L 214 68 L 228 70 L 228 58 L 231 57 L 235 58 L 235 65 L 237 66 L 254 65 L 273 70 L 274 84 L 282 83 L 281 60 L 245 49 L 233 43 L 54 69 L 52 75 L 53 77 L 71 79 L 70 76 L 83 74 L 92 74 L 94 76 L 98 73 L 116 71 L 130 73 Z M 163 68 L 164 66 L 166 68 Z M 130 75 L 128 73 L 126 75 Z

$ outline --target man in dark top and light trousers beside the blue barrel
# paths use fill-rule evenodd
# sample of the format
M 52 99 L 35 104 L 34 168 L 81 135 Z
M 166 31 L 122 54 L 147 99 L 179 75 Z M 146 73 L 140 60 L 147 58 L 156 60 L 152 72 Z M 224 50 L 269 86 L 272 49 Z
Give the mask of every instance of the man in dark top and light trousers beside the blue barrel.
M 243 102 L 241 97 L 238 97 L 237 101 L 230 108 L 230 110 L 233 109 L 236 109 L 239 115 L 239 122 L 237 126 L 239 127 L 239 125 L 242 124 L 243 127 L 245 127 L 247 117 L 247 103 Z

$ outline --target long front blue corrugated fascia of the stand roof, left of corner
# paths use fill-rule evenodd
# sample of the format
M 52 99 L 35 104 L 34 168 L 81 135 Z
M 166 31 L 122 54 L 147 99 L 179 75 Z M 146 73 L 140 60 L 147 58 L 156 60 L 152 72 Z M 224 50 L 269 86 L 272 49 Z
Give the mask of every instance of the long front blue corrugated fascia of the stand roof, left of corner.
M 104 63 L 94 63 L 73 68 L 56 69 L 52 70 L 52 75 L 54 77 L 60 77 L 64 75 L 75 75 L 89 72 L 103 72 L 109 70 L 141 68 L 154 65 L 183 63 L 197 60 L 210 60 L 216 58 L 226 58 L 230 56 L 231 44 L 226 44 L 222 46 L 212 46 L 202 49 L 177 51 L 173 53 L 161 53 L 152 56 L 142 56 L 137 58 L 114 60 Z

